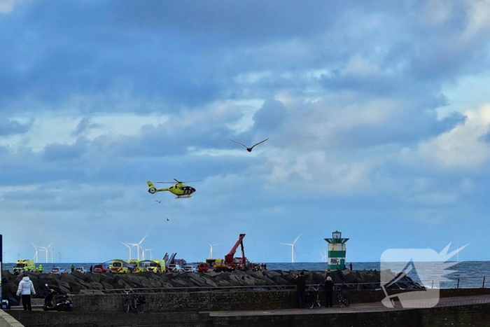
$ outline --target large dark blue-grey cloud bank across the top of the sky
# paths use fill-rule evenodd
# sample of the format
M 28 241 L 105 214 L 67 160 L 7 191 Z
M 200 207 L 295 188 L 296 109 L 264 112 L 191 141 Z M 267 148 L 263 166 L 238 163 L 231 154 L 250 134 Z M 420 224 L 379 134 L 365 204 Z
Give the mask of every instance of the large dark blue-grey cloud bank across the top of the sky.
M 301 94 L 318 83 L 304 78 L 314 69 L 332 71 L 319 81 L 329 90 L 437 94 L 441 78 L 488 64 L 486 36 L 461 41 L 468 8 L 454 6 L 451 20 L 435 26 L 421 18 L 421 3 L 383 3 L 358 1 L 349 11 L 324 1 L 31 3 L 0 22 L 6 31 L 0 104 L 26 97 L 61 104 L 90 95 L 106 103 L 78 110 L 172 111 L 244 95 L 270 98 L 281 90 Z M 374 64 L 379 76 L 346 74 L 353 55 Z M 244 90 L 237 76 L 261 71 L 272 74 L 267 83 L 259 79 Z M 124 106 L 120 95 L 162 106 Z

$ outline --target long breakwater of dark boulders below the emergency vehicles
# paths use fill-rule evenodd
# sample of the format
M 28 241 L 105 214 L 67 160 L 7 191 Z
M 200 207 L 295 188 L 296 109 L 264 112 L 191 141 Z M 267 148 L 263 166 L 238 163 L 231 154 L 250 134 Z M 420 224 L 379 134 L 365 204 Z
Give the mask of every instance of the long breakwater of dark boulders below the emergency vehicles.
M 155 274 L 50 274 L 29 272 L 29 278 L 36 289 L 36 298 L 42 298 L 45 284 L 59 294 L 113 292 L 124 288 L 142 289 L 147 292 L 162 291 L 225 291 L 233 287 L 248 286 L 248 289 L 292 288 L 298 271 L 267 270 L 265 272 L 165 272 Z M 321 271 L 304 271 L 307 284 L 323 284 L 325 274 Z M 392 274 L 391 272 L 389 272 Z M 377 270 L 332 270 L 328 272 L 335 284 L 345 284 L 346 288 L 375 289 L 380 288 L 380 272 Z M 394 274 L 392 274 L 395 277 Z M 3 296 L 10 298 L 15 305 L 15 295 L 22 275 L 13 275 L 3 271 Z M 423 288 L 409 277 L 402 277 L 390 288 Z

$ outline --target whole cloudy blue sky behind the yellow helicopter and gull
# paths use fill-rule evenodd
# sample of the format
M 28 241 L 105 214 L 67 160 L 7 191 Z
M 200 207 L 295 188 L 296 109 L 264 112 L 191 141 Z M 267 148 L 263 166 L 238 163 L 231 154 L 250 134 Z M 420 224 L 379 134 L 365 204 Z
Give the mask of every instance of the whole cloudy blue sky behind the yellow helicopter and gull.
M 241 233 L 253 262 L 290 262 L 298 236 L 294 261 L 321 262 L 336 230 L 347 262 L 448 244 L 490 260 L 489 15 L 0 0 L 3 262 L 128 258 L 141 239 L 146 258 L 202 261 Z M 147 192 L 174 179 L 193 197 Z

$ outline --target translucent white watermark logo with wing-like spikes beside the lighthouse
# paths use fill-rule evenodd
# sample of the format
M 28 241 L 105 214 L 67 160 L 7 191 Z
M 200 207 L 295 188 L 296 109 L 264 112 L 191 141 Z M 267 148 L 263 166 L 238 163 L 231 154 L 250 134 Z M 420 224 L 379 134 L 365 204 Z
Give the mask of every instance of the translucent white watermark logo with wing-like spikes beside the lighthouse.
M 447 270 L 457 261 L 447 262 L 468 244 L 448 253 L 451 243 L 437 253 L 433 249 L 388 249 L 381 254 L 381 288 L 386 297 L 381 301 L 385 307 L 395 307 L 395 299 L 405 308 L 435 307 L 440 298 L 440 282 L 449 281 L 444 275 L 454 272 Z M 410 288 L 407 276 L 421 288 L 388 295 L 389 289 Z M 412 283 L 412 285 L 414 285 Z

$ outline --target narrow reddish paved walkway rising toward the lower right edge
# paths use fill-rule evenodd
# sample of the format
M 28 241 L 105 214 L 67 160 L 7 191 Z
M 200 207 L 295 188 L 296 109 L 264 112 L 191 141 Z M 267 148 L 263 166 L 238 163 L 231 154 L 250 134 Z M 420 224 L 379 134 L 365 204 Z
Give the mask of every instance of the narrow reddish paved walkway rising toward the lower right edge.
M 419 307 L 423 304 L 423 301 L 416 300 L 412 302 L 412 307 L 401 307 L 396 305 L 394 308 L 385 307 L 381 302 L 373 303 L 360 303 L 356 305 L 349 305 L 349 307 L 318 307 L 314 309 L 278 309 L 278 310 L 265 310 L 265 311 L 214 311 L 209 312 L 209 316 L 274 316 L 274 315 L 290 315 L 290 314 L 348 314 L 359 312 L 386 312 L 393 310 L 407 310 L 413 309 L 414 302 Z M 405 302 L 405 303 L 410 303 Z M 431 302 L 428 302 L 431 303 Z M 478 305 L 490 303 L 490 295 L 473 295 L 473 296 L 458 296 L 454 298 L 441 298 L 435 307 L 457 307 L 460 305 Z

